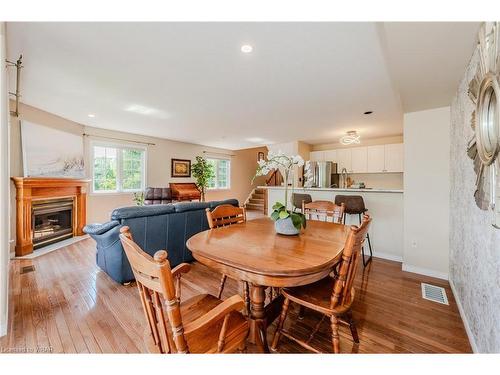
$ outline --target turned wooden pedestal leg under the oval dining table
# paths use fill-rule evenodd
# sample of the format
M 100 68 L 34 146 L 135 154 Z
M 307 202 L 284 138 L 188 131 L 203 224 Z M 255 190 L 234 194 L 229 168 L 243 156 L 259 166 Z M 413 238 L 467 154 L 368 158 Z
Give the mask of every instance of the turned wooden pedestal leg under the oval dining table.
M 266 318 L 266 287 L 252 285 L 250 291 L 250 337 L 249 341 L 256 344 L 259 350 L 269 353 L 267 345 L 267 318 Z

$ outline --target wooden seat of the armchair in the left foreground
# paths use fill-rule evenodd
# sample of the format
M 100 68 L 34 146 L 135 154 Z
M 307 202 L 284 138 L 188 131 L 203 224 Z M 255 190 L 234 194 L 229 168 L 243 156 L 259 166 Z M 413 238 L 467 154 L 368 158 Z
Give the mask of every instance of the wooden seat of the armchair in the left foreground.
M 222 302 L 222 300 L 210 294 L 200 294 L 182 301 L 180 308 L 183 325 L 187 326 L 190 322 L 200 318 Z M 222 323 L 223 319 L 220 319 L 220 321 L 209 325 L 207 328 L 186 334 L 185 337 L 190 353 L 216 353 Z M 168 333 L 169 338 L 171 338 L 172 331 L 170 327 L 168 327 Z M 244 342 L 247 333 L 248 322 L 245 317 L 239 312 L 230 312 L 223 353 L 234 352 Z

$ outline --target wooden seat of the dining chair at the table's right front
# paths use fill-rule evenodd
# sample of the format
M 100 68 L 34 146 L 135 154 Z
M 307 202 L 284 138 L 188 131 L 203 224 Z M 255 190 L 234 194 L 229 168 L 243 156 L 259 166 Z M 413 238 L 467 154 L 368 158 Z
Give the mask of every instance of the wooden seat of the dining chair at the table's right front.
M 322 314 L 341 315 L 349 310 L 351 304 L 339 305 L 334 309 L 330 308 L 334 283 L 335 279 L 331 276 L 327 276 L 313 284 L 294 288 L 284 288 L 283 295 L 285 298 L 288 298 L 299 305 L 318 311 Z M 354 288 L 351 289 L 350 300 L 354 300 Z

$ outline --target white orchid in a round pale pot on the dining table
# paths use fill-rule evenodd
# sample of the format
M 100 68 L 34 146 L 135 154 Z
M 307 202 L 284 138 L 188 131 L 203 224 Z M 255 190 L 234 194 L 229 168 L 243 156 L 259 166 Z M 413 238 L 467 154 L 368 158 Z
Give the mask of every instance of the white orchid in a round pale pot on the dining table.
M 293 193 L 293 171 L 295 167 L 302 167 L 304 160 L 299 155 L 288 156 L 281 151 L 276 153 L 269 151 L 267 160 L 259 160 L 257 164 L 259 166 L 257 167 L 255 177 L 265 176 L 270 171 L 276 169 L 283 175 L 285 203 L 275 202 L 272 207 L 273 212 L 271 213 L 271 219 L 275 221 L 274 228 L 276 232 L 285 235 L 299 234 L 300 230 L 306 227 L 306 217 L 301 213 L 288 209 L 290 204 L 288 199 L 288 183 L 292 183 Z

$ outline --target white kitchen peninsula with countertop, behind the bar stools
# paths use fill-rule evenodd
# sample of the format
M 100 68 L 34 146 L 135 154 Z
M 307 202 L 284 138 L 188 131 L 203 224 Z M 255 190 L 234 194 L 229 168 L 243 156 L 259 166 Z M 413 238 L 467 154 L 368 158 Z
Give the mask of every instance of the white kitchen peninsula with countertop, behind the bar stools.
M 283 186 L 261 186 L 267 190 L 267 211 L 272 212 L 275 202 L 283 202 Z M 403 190 L 398 189 L 335 189 L 294 188 L 294 193 L 309 194 L 313 201 L 334 201 L 336 195 L 361 195 L 373 221 L 370 240 L 373 256 L 402 261 L 403 258 Z M 291 207 L 291 189 L 289 190 Z M 357 215 L 347 215 L 346 224 L 358 224 Z M 307 229 L 306 229 L 307 230 Z M 367 249 L 365 249 L 367 254 Z

